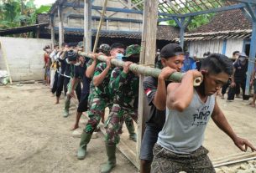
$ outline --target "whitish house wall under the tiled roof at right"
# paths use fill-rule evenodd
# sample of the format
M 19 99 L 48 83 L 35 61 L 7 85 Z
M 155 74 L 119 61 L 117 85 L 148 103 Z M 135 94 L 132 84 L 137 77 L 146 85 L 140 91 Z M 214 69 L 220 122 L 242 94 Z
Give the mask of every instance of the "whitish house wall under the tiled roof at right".
M 232 57 L 232 52 L 238 50 L 242 52 L 243 50 L 243 38 L 232 38 L 227 39 L 226 48 L 223 39 L 216 40 L 201 40 L 201 41 L 191 41 L 189 42 L 189 52 L 191 56 L 196 55 L 196 57 L 202 58 L 203 53 L 225 53 L 227 57 Z

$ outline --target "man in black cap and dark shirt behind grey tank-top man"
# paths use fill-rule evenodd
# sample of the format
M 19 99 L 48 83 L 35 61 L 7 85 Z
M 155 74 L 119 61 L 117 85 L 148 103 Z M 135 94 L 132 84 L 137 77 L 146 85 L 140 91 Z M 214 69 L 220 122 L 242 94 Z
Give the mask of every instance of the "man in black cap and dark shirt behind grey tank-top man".
M 157 141 L 159 131 L 165 124 L 166 88 L 170 82 L 165 82 L 170 74 L 180 72 L 183 65 L 184 53 L 179 44 L 170 43 L 160 51 L 160 64 L 164 67 L 159 78 L 152 76 L 144 79 L 144 93 L 146 94 L 150 112 L 146 120 L 146 127 L 140 148 L 140 172 L 150 172 L 153 160 L 153 148 Z M 159 62 L 159 61 L 158 61 Z M 159 63 L 158 63 L 159 66 Z

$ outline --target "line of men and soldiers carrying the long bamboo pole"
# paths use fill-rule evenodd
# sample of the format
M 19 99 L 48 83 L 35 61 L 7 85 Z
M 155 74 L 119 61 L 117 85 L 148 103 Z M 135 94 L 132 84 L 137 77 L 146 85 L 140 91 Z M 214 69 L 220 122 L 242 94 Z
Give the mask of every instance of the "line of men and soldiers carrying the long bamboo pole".
M 82 112 L 89 117 L 81 134 L 77 159 L 86 158 L 91 136 L 102 121 L 105 125 L 107 163 L 101 172 L 111 172 L 117 164 L 116 148 L 126 124 L 131 140 L 136 141 L 133 121 L 138 120 L 139 75 L 129 70 L 131 64 L 139 63 L 140 46 L 113 43 L 102 44 L 98 53 L 78 53 L 82 43 L 69 47 L 63 43 L 49 53 L 50 87 L 60 103 L 65 90 L 64 117 L 69 115 L 71 98 L 79 100 L 76 123 Z M 46 48 L 44 48 L 46 49 Z M 218 107 L 214 94 L 227 84 L 233 74 L 232 61 L 219 53 L 208 53 L 201 62 L 188 59 L 179 44 L 170 43 L 159 51 L 155 67 L 161 69 L 158 78 L 144 78 L 144 94 L 150 107 L 146 116 L 146 128 L 140 149 L 140 172 L 215 172 L 208 150 L 202 146 L 206 125 L 210 117 L 238 146 L 240 150 L 256 150 L 248 140 L 238 137 Z M 106 62 L 97 59 L 102 56 Z M 123 61 L 123 67 L 115 67 L 112 59 Z M 184 62 L 188 62 L 186 66 Z M 192 65 L 191 65 L 192 64 Z M 187 66 L 191 67 L 187 67 Z M 197 68 L 197 69 L 196 69 Z M 45 70 L 46 71 L 46 70 Z M 174 72 L 185 72 L 180 83 L 167 81 Z M 54 75 L 54 78 L 52 78 Z M 194 79 L 202 83 L 194 86 Z M 82 83 L 82 87 L 81 87 Z M 76 91 L 76 94 L 75 94 Z M 107 120 L 105 109 L 109 108 Z

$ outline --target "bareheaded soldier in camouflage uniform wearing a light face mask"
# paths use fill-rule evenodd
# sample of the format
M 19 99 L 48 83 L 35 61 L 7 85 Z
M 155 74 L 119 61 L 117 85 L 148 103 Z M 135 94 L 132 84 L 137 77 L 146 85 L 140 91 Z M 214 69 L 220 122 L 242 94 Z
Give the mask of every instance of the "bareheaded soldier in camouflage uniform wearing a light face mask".
M 124 46 L 121 43 L 112 45 L 111 54 L 123 53 Z M 99 63 L 94 71 L 90 86 L 90 94 L 88 98 L 89 111 L 88 123 L 81 134 L 80 147 L 77 151 L 77 159 L 85 159 L 86 146 L 91 140 L 91 135 L 97 129 L 106 107 L 112 108 L 112 94 L 108 89 L 109 79 L 112 73 L 112 65 L 110 60 L 112 57 L 107 57 L 106 63 Z

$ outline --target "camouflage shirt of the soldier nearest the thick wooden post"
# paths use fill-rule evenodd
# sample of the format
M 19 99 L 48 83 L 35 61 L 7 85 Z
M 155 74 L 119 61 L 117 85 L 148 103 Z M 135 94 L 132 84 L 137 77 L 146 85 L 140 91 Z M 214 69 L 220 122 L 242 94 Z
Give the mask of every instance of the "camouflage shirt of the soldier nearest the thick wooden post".
M 138 84 L 139 78 L 133 72 L 123 73 L 123 68 L 112 70 L 109 81 L 109 92 L 113 94 L 113 103 L 125 108 L 138 108 Z

